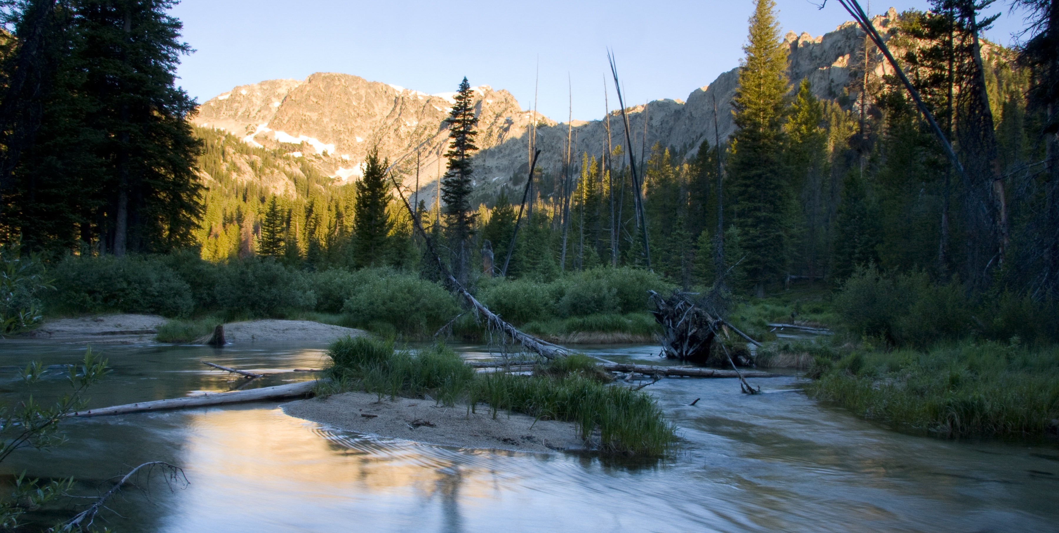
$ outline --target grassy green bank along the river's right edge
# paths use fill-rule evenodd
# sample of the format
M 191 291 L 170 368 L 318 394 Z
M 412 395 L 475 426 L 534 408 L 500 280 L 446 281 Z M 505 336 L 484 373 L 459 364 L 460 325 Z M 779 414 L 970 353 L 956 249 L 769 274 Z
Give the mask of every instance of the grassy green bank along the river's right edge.
M 964 342 L 818 356 L 807 386 L 859 416 L 945 436 L 1040 436 L 1059 418 L 1059 347 Z

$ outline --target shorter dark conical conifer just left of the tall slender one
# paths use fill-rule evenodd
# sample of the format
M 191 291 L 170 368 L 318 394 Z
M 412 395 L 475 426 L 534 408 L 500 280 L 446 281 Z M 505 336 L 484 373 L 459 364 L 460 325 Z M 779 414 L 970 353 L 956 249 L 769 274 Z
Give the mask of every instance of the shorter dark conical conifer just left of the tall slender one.
M 354 262 L 357 266 L 380 266 L 384 261 L 387 237 L 393 227 L 387 214 L 390 204 L 389 165 L 389 160 L 379 161 L 378 148 L 372 148 L 364 160 L 364 177 L 357 183 L 353 216 L 356 235 Z

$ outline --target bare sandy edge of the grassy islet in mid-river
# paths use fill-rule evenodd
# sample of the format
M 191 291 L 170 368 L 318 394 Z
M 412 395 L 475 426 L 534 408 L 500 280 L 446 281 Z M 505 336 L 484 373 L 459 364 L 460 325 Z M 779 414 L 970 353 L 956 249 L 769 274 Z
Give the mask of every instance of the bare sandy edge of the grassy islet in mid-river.
M 433 400 L 408 398 L 379 402 L 377 394 L 344 392 L 286 403 L 283 410 L 331 427 L 430 444 L 544 453 L 585 446 L 572 422 L 534 424 L 533 417 L 506 411 L 492 418 L 484 405 L 468 412 L 466 405 L 444 407 Z

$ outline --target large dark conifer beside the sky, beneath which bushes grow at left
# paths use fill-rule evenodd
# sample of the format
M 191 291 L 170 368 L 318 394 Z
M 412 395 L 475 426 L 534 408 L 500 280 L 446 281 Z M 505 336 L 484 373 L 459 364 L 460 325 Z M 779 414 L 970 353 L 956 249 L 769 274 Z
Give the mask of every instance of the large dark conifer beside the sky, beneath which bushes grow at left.
M 192 244 L 201 215 L 193 168 L 201 144 L 186 117 L 196 103 L 176 87 L 181 42 L 168 0 L 83 0 L 77 5 L 86 72 L 95 102 L 85 117 L 104 139 L 106 162 L 97 214 L 101 250 L 115 255 Z

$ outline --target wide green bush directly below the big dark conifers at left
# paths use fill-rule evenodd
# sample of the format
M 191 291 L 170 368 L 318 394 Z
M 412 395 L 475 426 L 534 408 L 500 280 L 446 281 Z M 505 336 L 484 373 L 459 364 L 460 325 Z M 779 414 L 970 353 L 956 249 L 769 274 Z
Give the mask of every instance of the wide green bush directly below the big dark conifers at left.
M 71 256 L 51 276 L 56 291 L 44 300 L 51 313 L 187 316 L 195 309 L 191 287 L 157 256 Z

